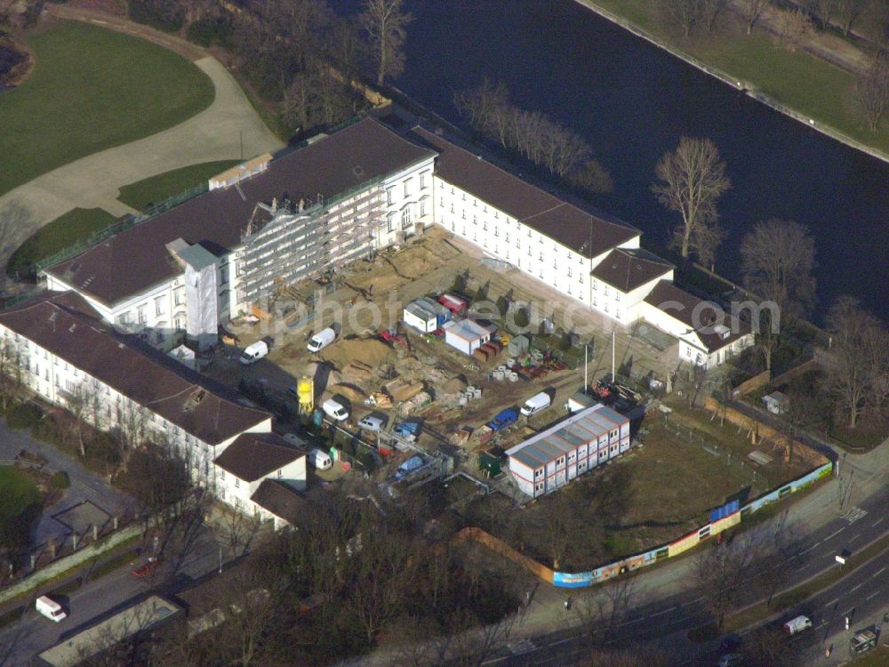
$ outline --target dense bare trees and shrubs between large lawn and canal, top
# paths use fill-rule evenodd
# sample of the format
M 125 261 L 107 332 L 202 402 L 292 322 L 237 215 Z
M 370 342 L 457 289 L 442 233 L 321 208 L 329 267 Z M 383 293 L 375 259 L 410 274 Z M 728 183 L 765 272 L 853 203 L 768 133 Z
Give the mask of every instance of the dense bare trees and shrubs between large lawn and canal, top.
M 130 17 L 228 51 L 293 132 L 334 125 L 367 106 L 352 82 L 384 84 L 404 68 L 403 0 L 364 0 L 340 17 L 324 0 L 130 0 Z

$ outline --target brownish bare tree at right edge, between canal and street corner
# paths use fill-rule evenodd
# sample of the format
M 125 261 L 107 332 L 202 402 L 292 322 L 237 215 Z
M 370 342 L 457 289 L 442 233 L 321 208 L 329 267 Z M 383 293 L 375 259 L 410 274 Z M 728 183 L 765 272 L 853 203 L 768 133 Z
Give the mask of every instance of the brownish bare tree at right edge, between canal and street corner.
M 857 299 L 841 296 L 830 308 L 827 328 L 831 334 L 827 367 L 828 387 L 854 429 L 869 390 L 867 350 L 880 326 L 876 317 L 861 309 Z

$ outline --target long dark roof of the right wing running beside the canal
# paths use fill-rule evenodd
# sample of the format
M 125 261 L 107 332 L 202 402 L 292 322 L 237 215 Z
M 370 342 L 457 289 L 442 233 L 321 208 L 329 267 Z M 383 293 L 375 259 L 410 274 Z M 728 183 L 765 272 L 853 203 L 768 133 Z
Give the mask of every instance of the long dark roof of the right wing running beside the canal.
M 637 229 L 583 211 L 423 127 L 412 132 L 438 151 L 436 176 L 576 253 L 596 257 L 639 236 Z

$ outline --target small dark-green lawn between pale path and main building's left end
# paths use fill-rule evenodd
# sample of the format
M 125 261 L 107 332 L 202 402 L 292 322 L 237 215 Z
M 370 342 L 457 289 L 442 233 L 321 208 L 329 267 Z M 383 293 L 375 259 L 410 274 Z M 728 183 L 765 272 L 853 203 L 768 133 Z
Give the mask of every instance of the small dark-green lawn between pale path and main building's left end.
M 89 237 L 93 232 L 105 229 L 116 218 L 100 208 L 76 208 L 36 231 L 12 253 L 6 264 L 6 274 L 26 277 L 34 271 L 36 261 L 49 257 Z

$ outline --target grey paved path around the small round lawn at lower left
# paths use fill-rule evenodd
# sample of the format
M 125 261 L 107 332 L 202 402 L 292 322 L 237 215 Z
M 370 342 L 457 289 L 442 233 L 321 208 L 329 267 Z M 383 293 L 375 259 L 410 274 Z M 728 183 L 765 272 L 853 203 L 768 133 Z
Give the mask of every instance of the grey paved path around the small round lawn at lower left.
M 39 544 L 45 542 L 48 537 L 58 538 L 68 535 L 70 533 L 68 527 L 60 524 L 52 518 L 52 515 L 80 502 L 93 502 L 108 514 L 117 515 L 134 506 L 132 498 L 108 484 L 92 470 L 84 468 L 80 462 L 68 457 L 67 454 L 62 454 L 55 446 L 32 438 L 27 430 L 12 430 L 7 428 L 5 422 L 0 422 L 0 461 L 14 460 L 22 449 L 32 454 L 40 454 L 47 461 L 47 469 L 53 472 L 63 470 L 68 473 L 68 478 L 71 480 L 71 486 L 61 500 L 44 511 L 36 526 L 34 542 Z

